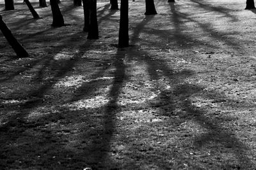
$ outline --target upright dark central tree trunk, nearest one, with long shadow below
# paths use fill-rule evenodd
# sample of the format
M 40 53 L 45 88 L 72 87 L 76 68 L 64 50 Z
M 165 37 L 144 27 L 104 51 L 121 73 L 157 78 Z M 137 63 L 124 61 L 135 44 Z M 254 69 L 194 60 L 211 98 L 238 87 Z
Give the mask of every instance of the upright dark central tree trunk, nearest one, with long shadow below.
M 120 26 L 118 35 L 118 46 L 120 48 L 129 46 L 129 3 L 127 0 L 121 0 L 120 7 Z

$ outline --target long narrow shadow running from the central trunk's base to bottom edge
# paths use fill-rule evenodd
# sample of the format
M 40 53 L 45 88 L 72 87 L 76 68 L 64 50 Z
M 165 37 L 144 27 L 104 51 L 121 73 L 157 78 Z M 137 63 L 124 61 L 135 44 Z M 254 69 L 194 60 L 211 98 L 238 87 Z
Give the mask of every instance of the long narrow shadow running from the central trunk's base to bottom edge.
M 93 169 L 99 169 L 99 167 L 106 168 L 109 166 L 108 153 L 111 151 L 110 142 L 113 133 L 115 132 L 116 114 L 118 113 L 118 110 L 120 110 L 117 101 L 122 90 L 124 80 L 126 79 L 125 64 L 123 60 L 124 57 L 125 52 L 121 52 L 120 49 L 118 49 L 115 55 L 115 62 L 113 62 L 113 66 L 116 70 L 115 73 L 113 73 L 114 80 L 112 87 L 108 92 L 109 101 L 104 108 L 102 108 L 103 129 L 99 132 L 97 140 L 92 142 L 92 146 L 88 146 L 88 150 L 91 150 L 89 153 L 90 157 L 94 160 L 93 164 L 90 164 Z M 106 164 L 108 164 L 108 166 L 106 166 Z M 115 165 L 114 162 L 110 164 L 112 164 L 113 167 L 118 166 Z

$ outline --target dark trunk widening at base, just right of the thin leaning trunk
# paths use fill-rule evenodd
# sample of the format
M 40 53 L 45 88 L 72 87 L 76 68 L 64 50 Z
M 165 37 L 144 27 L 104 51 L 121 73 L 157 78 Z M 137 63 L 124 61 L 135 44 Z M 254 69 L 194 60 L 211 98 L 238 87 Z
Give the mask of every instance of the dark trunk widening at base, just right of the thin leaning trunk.
M 57 0 L 50 0 L 52 10 L 52 26 L 62 27 L 64 26 L 64 19 L 61 14 Z

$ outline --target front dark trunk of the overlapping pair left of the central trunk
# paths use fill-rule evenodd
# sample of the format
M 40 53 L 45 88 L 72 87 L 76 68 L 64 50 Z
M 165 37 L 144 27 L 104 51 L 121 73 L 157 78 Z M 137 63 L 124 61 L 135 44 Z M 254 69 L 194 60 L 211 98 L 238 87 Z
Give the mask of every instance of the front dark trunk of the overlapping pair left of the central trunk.
M 99 39 L 99 29 L 97 20 L 97 0 L 88 1 L 90 24 L 88 27 L 87 39 Z

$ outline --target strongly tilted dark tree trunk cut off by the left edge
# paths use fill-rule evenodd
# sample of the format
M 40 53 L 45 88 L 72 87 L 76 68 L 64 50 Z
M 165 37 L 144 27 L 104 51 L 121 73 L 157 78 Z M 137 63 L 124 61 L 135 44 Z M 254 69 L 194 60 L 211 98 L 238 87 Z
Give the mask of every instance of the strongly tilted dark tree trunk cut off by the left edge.
M 26 50 L 20 45 L 19 41 L 13 36 L 12 32 L 3 21 L 2 16 L 0 15 L 0 29 L 3 32 L 3 35 L 7 39 L 8 43 L 12 46 L 13 50 L 18 57 L 28 57 Z

